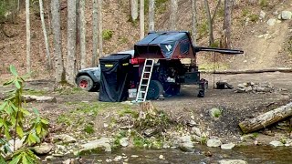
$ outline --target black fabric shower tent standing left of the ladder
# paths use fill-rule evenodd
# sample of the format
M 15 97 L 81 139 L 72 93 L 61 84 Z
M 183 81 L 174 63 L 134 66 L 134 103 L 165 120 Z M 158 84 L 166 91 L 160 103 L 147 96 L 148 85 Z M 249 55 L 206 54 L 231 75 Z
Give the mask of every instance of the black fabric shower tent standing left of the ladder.
M 129 54 L 113 54 L 99 58 L 99 101 L 120 102 L 128 97 L 130 58 Z

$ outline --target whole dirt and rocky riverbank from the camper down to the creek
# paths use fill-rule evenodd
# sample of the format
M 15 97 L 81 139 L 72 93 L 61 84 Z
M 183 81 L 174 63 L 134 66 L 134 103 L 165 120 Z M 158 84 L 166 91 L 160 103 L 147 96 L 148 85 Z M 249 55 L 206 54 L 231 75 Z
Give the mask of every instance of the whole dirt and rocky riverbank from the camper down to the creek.
M 50 122 L 50 134 L 45 140 L 50 149 L 47 162 L 124 148 L 194 152 L 201 145 L 217 147 L 214 148 L 217 150 L 270 145 L 271 141 L 281 147 L 292 145 L 289 119 L 251 134 L 243 134 L 238 128 L 238 123 L 246 118 L 290 102 L 292 74 L 215 76 L 215 81 L 226 80 L 235 87 L 224 90 L 213 89 L 213 76 L 203 77 L 209 80 L 205 97 L 196 97 L 196 87 L 184 86 L 179 96 L 151 101 L 153 108 L 149 111 L 129 102 L 99 102 L 98 93 L 77 88 L 54 89 L 54 84 L 46 80 L 27 82 L 25 94 L 57 99 L 57 102 L 27 104 L 28 108 L 38 108 Z M 268 84 L 270 89 L 235 92 L 237 85 L 247 82 Z M 65 141 L 59 135 L 71 140 Z M 208 157 L 212 152 L 202 151 L 202 155 Z

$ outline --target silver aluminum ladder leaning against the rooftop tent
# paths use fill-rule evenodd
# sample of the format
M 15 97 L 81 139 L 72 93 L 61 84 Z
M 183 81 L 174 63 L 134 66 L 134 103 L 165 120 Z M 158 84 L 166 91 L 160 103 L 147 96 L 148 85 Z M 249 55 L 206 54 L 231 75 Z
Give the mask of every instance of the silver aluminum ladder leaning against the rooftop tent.
M 154 59 L 147 58 L 144 62 L 143 71 L 141 74 L 140 84 L 138 87 L 136 101 L 144 102 L 147 97 L 149 84 L 151 81 L 152 70 L 154 66 Z

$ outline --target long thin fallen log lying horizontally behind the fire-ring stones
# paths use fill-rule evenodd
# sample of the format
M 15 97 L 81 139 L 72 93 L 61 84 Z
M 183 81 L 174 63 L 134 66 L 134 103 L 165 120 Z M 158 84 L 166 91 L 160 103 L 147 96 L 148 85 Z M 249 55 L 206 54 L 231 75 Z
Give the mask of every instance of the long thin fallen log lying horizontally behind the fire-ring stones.
M 201 73 L 205 74 L 258 74 L 258 73 L 266 73 L 266 72 L 284 72 L 290 73 L 292 72 L 292 68 L 290 67 L 275 67 L 275 68 L 266 68 L 266 69 L 244 69 L 244 70 L 200 70 Z

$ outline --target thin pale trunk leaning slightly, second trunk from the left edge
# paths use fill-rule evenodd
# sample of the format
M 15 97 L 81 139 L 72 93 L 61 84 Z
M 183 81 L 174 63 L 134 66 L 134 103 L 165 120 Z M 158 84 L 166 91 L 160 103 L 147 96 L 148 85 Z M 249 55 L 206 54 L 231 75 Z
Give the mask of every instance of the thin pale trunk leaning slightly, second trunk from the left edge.
M 43 6 L 43 0 L 39 0 L 39 13 L 40 13 L 40 19 L 42 21 L 42 28 L 45 38 L 45 46 L 46 46 L 46 54 L 47 54 L 47 68 L 51 69 L 51 56 L 49 54 L 49 47 L 48 47 L 48 40 L 47 40 L 47 29 L 45 24 L 45 18 L 44 18 L 44 6 Z

